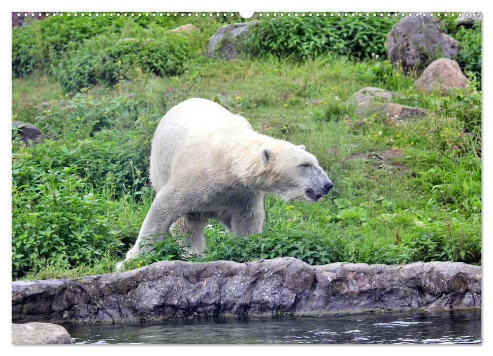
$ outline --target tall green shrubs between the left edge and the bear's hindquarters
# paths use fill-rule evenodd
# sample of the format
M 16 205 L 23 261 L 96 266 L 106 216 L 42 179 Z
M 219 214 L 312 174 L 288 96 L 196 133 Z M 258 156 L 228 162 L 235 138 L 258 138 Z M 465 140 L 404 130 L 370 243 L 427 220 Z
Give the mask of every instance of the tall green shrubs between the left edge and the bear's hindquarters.
M 133 140 L 135 133 L 119 135 L 126 137 L 121 141 L 108 134 L 35 146 L 13 141 L 14 278 L 39 270 L 43 260 L 63 261 L 64 269 L 94 268 L 104 255 L 119 259 L 124 244 L 135 242 L 141 210 L 153 194 L 149 148 Z

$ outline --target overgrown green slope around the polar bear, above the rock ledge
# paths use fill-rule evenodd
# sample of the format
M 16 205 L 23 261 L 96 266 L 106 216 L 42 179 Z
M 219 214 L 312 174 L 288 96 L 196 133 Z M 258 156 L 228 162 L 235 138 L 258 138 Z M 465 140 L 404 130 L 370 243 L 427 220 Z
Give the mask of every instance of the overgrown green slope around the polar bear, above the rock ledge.
M 52 141 L 13 141 L 13 278 L 112 271 L 152 201 L 153 131 L 191 97 L 215 99 L 256 131 L 305 144 L 335 186 L 316 203 L 267 196 L 256 236 L 237 238 L 210 221 L 205 256 L 189 260 L 480 264 L 481 94 L 471 85 L 423 95 L 412 81 L 385 61 L 337 56 L 306 63 L 198 57 L 179 76 L 138 74 L 70 95 L 52 77 L 14 79 L 13 120 L 38 125 Z M 346 100 L 365 86 L 399 91 L 400 102 L 430 116 L 392 123 L 355 116 Z M 183 258 L 173 239 L 156 251 L 127 268 Z

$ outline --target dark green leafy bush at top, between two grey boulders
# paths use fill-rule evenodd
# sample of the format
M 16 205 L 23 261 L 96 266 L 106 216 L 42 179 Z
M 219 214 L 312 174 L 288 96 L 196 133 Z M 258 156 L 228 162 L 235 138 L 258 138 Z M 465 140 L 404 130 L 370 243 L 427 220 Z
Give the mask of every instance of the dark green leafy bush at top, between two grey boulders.
M 277 18 L 264 20 L 247 39 L 253 56 L 273 54 L 294 60 L 313 59 L 330 52 L 357 58 L 384 57 L 385 35 L 395 23 L 393 18 Z

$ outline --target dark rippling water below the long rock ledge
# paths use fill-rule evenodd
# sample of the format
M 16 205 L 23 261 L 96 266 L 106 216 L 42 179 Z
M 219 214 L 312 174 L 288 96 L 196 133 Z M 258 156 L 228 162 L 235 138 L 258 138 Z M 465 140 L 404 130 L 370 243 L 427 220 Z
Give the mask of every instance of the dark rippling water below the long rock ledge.
M 75 344 L 480 344 L 481 310 L 62 324 Z

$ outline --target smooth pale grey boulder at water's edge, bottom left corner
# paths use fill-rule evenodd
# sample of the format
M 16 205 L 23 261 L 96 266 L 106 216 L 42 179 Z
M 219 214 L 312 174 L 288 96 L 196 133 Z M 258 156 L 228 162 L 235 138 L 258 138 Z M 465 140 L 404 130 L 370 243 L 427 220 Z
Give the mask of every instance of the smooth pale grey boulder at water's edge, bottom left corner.
M 60 325 L 46 322 L 12 323 L 12 344 L 72 344 L 70 334 Z

